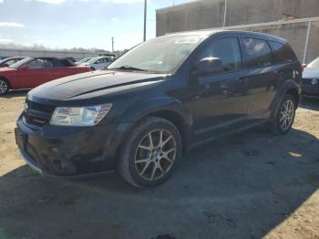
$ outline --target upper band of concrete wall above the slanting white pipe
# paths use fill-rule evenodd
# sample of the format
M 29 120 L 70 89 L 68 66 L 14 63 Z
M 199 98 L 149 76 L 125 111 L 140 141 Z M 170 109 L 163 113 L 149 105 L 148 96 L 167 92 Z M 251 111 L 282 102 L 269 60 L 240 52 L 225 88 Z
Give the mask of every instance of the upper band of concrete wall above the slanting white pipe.
M 156 12 L 157 36 L 223 26 L 226 0 L 201 0 Z M 225 26 L 319 16 L 319 0 L 227 0 Z

